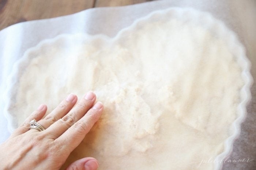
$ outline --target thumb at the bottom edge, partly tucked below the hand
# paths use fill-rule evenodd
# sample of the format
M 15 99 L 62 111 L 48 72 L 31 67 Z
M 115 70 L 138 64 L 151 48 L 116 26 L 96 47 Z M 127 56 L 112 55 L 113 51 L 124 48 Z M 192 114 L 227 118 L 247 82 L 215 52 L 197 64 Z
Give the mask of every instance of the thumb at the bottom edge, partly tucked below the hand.
M 86 157 L 71 163 L 66 170 L 97 170 L 99 163 L 95 158 Z

